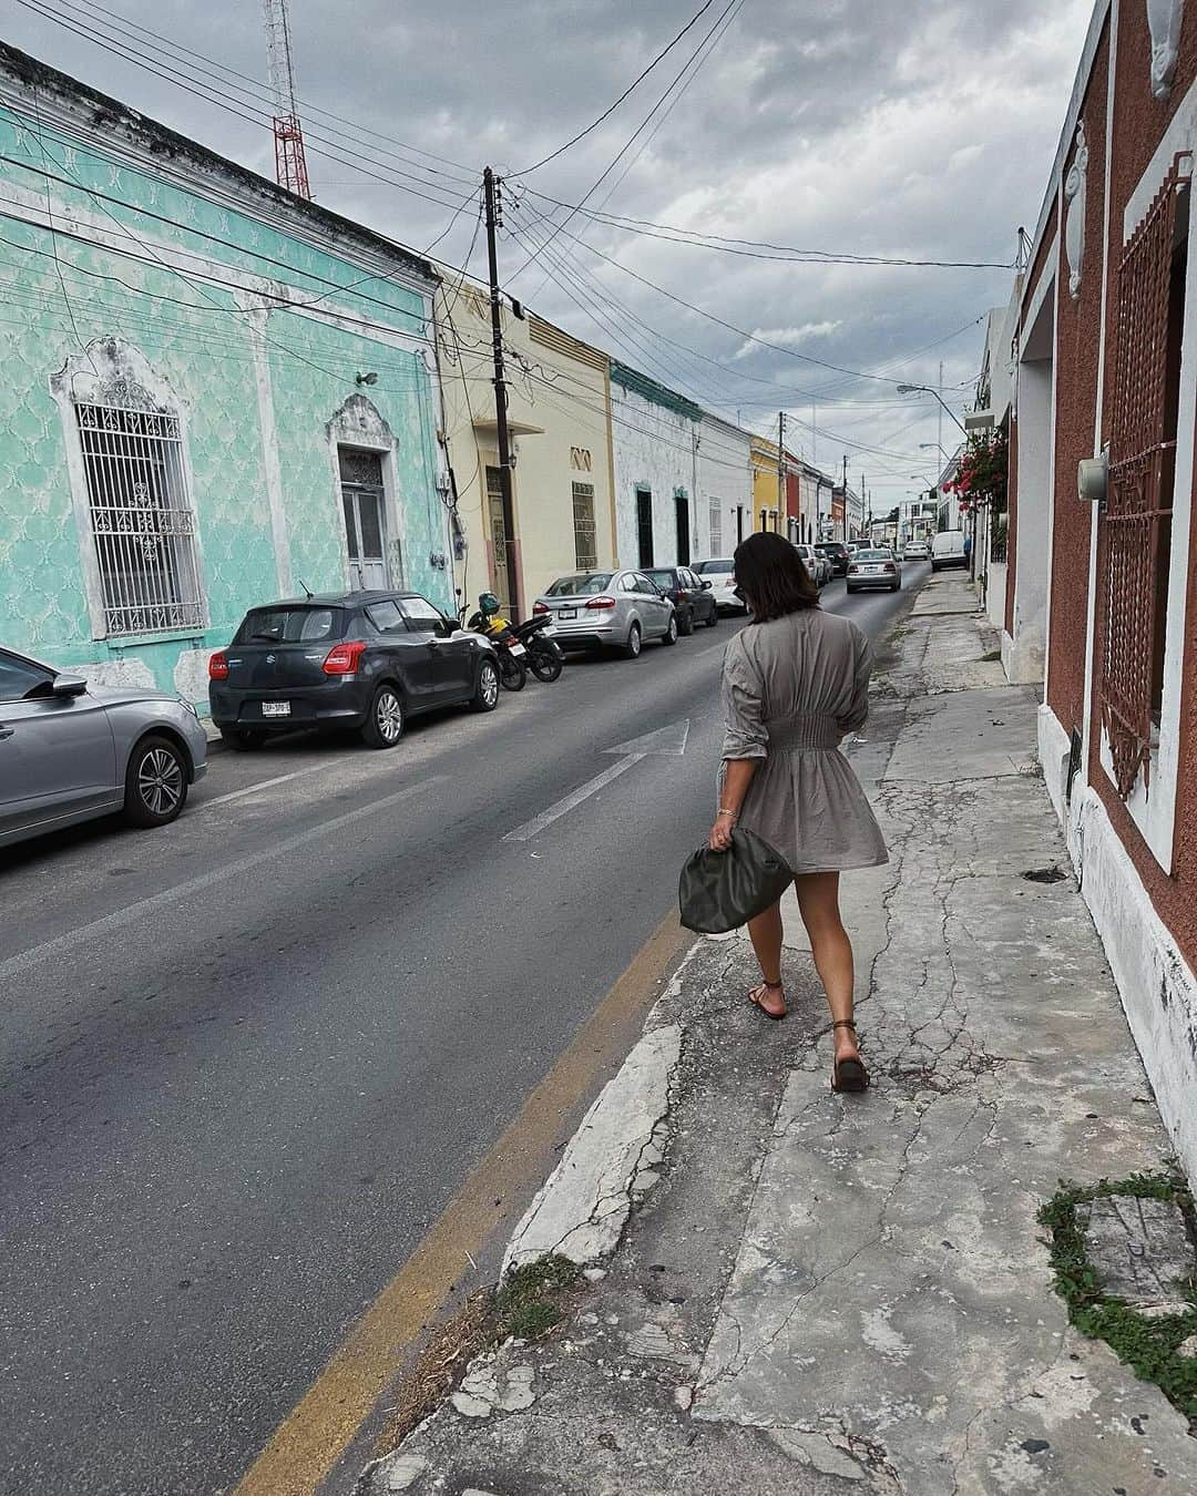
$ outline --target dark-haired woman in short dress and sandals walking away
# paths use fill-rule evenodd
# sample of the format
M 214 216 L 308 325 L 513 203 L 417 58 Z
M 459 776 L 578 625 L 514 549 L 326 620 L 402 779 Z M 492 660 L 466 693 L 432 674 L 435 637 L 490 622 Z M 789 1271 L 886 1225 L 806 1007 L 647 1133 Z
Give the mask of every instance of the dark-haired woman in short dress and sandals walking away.
M 742 826 L 795 874 L 798 907 L 827 993 L 835 1035 L 833 1091 L 869 1083 L 853 1022 L 851 941 L 839 919 L 839 874 L 887 862 L 881 829 L 839 752 L 868 717 L 872 651 L 847 618 L 824 613 L 798 551 L 778 534 L 750 536 L 735 555 L 751 622 L 723 663 L 726 738 L 709 847 L 726 851 Z M 748 996 L 786 1017 L 781 907 L 748 922 L 762 984 Z

